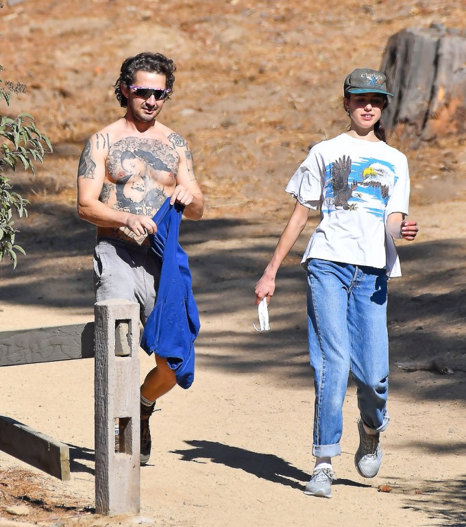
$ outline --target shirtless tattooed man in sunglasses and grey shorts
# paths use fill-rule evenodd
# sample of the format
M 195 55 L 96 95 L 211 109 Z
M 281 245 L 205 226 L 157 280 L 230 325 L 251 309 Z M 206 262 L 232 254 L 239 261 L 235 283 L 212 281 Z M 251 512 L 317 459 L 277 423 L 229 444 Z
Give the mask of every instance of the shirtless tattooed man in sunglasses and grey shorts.
M 97 225 L 94 252 L 96 302 L 124 298 L 138 302 L 140 319 L 154 308 L 160 258 L 147 234 L 167 197 L 182 204 L 184 216 L 200 219 L 204 197 L 186 140 L 157 120 L 173 91 L 175 64 L 160 53 L 127 58 L 114 84 L 125 115 L 90 137 L 77 171 L 79 217 Z M 149 461 L 149 417 L 158 397 L 176 384 L 167 360 L 156 355 L 141 397 L 141 464 Z

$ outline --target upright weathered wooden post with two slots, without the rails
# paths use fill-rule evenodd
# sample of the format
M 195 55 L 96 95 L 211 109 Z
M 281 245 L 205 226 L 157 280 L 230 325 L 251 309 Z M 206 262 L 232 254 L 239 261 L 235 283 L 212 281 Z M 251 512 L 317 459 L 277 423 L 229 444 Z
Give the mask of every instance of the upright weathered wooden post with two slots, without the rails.
M 139 383 L 138 304 L 122 299 L 97 302 L 95 509 L 98 514 L 140 511 Z

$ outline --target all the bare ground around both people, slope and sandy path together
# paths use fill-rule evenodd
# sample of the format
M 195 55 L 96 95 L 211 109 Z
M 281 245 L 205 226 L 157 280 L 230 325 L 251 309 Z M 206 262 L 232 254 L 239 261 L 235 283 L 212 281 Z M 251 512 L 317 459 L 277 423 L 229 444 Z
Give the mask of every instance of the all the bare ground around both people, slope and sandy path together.
M 404 276 L 389 287 L 391 426 L 376 478 L 354 469 L 350 381 L 334 497 L 302 493 L 313 393 L 299 260 L 316 218 L 278 275 L 271 332 L 252 326 L 254 285 L 293 208 L 284 186 L 310 145 L 347 125 L 343 78 L 378 68 L 404 27 L 464 27 L 463 2 L 4 3 L 3 76 L 30 90 L 2 112 L 33 114 L 54 153 L 34 175 L 10 174 L 32 204 L 18 221 L 27 256 L 0 269 L 0 331 L 93 318 L 95 230 L 77 219 L 75 173 L 86 138 L 122 114 L 112 84 L 127 56 L 149 49 L 177 63 L 160 119 L 190 143 L 207 206 L 181 232 L 201 314 L 196 380 L 152 418 L 140 516 L 94 513 L 93 361 L 82 360 L 0 370 L 0 414 L 71 449 L 69 482 L 0 452 L 0 526 L 465 525 L 465 137 L 416 150 L 390 138 L 410 160 L 421 233 L 399 244 Z M 141 375 L 151 365 L 142 356 Z

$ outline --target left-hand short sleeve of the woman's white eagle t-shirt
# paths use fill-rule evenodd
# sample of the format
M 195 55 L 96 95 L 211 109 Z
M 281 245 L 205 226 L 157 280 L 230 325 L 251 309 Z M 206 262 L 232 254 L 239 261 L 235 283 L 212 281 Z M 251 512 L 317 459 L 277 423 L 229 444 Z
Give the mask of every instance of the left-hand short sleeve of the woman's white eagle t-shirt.
M 313 150 L 310 150 L 308 157 L 291 176 L 285 191 L 305 207 L 317 210 L 322 200 L 323 178 L 321 167 L 319 167 L 317 156 Z

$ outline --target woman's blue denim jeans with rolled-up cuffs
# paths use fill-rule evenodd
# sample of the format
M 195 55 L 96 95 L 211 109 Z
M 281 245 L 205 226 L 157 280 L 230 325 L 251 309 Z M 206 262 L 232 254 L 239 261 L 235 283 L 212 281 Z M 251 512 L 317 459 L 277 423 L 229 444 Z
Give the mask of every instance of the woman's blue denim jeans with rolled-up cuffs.
M 315 371 L 312 454 L 337 456 L 349 371 L 367 428 L 382 432 L 389 423 L 385 270 L 309 260 L 308 338 Z

